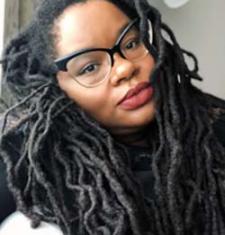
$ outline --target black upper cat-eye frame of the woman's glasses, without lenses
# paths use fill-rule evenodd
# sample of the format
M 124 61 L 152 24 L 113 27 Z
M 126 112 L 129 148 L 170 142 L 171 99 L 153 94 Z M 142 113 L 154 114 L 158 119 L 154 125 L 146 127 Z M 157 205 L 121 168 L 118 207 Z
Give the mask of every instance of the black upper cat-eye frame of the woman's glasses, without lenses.
M 63 58 L 59 58 L 57 60 L 55 60 L 55 65 L 57 66 L 57 68 L 61 71 L 67 71 L 67 63 L 79 56 L 79 55 L 82 55 L 84 53 L 87 53 L 87 52 L 92 52 L 92 51 L 105 51 L 107 52 L 109 55 L 110 55 L 110 58 L 111 58 L 111 62 L 112 62 L 112 66 L 114 64 L 114 59 L 113 59 L 113 55 L 118 52 L 120 54 L 120 56 L 122 56 L 123 58 L 126 58 L 124 55 L 123 55 L 123 52 L 121 51 L 121 48 L 120 48 L 120 43 L 122 42 L 123 38 L 125 37 L 126 33 L 130 30 L 131 27 L 133 27 L 135 24 L 139 23 L 140 19 L 139 18 L 136 18 L 134 19 L 133 21 L 131 21 L 127 27 L 123 30 L 123 32 L 121 33 L 121 35 L 119 36 L 119 38 L 116 40 L 116 43 L 115 45 L 112 47 L 112 48 L 90 48 L 90 49 L 81 49 L 79 51 L 76 51 L 76 52 L 73 52 Z M 151 32 L 150 32 L 150 37 L 151 37 L 151 41 L 152 41 L 152 26 L 151 26 Z M 152 42 L 150 42 L 152 43 Z M 147 50 L 147 49 L 146 49 Z

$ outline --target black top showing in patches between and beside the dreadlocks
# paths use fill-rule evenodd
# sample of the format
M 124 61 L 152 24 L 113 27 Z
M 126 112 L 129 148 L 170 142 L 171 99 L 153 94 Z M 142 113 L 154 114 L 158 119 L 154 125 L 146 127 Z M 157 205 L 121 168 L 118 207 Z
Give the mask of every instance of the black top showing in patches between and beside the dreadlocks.
M 213 124 L 213 128 L 218 140 L 225 147 L 225 114 Z M 153 177 L 149 169 L 149 151 L 147 148 L 134 146 L 129 146 L 128 151 L 132 160 L 134 174 L 143 188 L 145 197 L 149 198 L 152 196 L 151 185 L 153 186 Z M 5 217 L 16 209 L 12 195 L 7 188 L 5 171 L 5 165 L 0 159 L 0 224 Z

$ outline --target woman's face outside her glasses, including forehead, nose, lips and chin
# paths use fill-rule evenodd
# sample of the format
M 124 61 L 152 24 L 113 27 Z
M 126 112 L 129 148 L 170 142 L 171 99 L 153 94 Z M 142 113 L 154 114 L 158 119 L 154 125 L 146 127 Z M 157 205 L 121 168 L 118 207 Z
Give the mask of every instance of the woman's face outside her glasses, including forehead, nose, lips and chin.
M 54 28 L 57 58 L 84 48 L 113 47 L 121 29 L 130 21 L 114 4 L 104 0 L 91 0 L 66 8 Z M 96 87 L 81 86 L 64 71 L 58 72 L 57 80 L 72 100 L 112 134 L 134 133 L 154 118 L 153 89 L 146 88 L 154 59 L 147 54 L 132 62 L 118 53 L 113 58 L 114 65 L 108 78 Z M 135 95 L 124 99 L 134 88 Z

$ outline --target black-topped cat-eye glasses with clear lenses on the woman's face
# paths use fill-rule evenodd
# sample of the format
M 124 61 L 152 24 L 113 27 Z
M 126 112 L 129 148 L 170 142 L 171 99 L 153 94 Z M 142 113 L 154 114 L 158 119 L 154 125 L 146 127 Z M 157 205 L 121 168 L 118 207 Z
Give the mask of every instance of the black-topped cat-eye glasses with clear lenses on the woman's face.
M 149 42 L 152 44 L 152 27 L 149 22 Z M 113 55 L 118 52 L 129 61 L 139 61 L 149 52 L 141 39 L 139 19 L 131 21 L 112 48 L 91 48 L 76 51 L 55 60 L 59 70 L 68 74 L 84 87 L 100 85 L 110 74 L 114 64 Z

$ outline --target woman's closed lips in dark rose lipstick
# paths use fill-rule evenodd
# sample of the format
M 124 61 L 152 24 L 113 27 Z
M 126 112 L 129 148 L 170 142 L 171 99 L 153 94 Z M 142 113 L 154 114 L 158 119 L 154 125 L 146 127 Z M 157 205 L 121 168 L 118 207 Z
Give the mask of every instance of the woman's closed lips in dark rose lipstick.
M 134 110 L 148 103 L 152 97 L 153 87 L 149 82 L 141 82 L 130 89 L 118 105 L 125 110 Z

